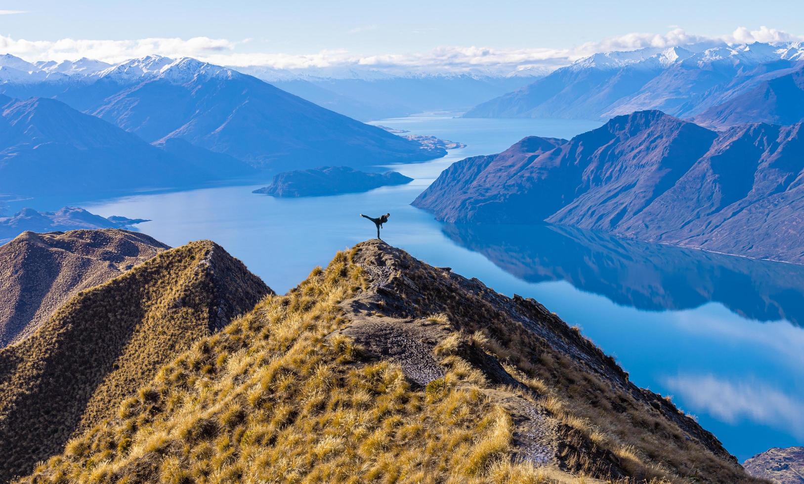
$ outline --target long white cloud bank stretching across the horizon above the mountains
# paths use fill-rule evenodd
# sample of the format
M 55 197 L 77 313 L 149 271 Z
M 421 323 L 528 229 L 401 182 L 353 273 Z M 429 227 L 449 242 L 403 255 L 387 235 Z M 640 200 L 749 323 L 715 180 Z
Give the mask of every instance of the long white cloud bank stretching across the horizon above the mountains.
M 598 52 L 630 51 L 645 47 L 675 47 L 693 43 L 753 43 L 804 41 L 804 36 L 769 27 L 750 30 L 739 27 L 731 34 L 694 35 L 680 27 L 666 34 L 630 33 L 568 48 L 460 47 L 443 46 L 430 51 L 365 55 L 346 50 L 323 50 L 310 54 L 259 52 L 249 48 L 249 39 L 209 37 L 149 38 L 133 40 L 59 39 L 27 40 L 0 35 L 0 52 L 31 62 L 75 60 L 83 57 L 118 63 L 145 55 L 193 57 L 212 64 L 234 67 L 261 66 L 273 69 L 359 68 L 385 72 L 539 72 L 571 64 Z

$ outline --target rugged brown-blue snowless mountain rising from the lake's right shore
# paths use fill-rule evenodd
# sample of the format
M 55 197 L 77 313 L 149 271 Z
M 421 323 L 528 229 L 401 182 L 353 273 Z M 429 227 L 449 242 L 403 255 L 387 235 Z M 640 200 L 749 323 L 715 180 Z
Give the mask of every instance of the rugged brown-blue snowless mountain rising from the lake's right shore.
M 660 111 L 466 158 L 413 204 L 447 222 L 572 225 L 804 262 L 802 123 L 716 132 Z

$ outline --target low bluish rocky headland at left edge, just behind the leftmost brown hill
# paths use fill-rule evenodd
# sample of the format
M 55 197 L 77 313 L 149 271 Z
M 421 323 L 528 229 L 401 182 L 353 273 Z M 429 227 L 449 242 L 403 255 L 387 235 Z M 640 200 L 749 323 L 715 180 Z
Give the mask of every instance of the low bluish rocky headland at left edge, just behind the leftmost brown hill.
M 113 215 L 109 218 L 92 214 L 80 207 L 64 207 L 58 211 L 35 211 L 23 208 L 9 217 L 0 217 L 0 244 L 23 232 L 66 232 L 78 229 L 129 228 L 148 222 Z

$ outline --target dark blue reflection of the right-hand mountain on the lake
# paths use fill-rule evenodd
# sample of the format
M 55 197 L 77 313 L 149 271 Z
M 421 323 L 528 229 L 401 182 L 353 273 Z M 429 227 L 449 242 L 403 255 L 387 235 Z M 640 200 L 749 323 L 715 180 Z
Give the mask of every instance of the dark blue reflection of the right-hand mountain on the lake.
M 804 326 L 804 266 L 622 240 L 554 225 L 445 225 L 450 240 L 528 282 L 568 281 L 617 304 L 687 310 L 720 302 L 745 318 Z

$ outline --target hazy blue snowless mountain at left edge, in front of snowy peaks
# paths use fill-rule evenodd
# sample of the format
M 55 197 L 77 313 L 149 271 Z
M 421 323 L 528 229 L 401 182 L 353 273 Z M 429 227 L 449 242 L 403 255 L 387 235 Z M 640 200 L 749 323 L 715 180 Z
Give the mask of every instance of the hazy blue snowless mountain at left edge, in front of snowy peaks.
M 197 186 L 218 175 L 203 160 L 175 157 L 58 100 L 0 95 L 0 193 L 118 195 Z

